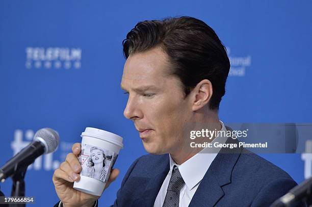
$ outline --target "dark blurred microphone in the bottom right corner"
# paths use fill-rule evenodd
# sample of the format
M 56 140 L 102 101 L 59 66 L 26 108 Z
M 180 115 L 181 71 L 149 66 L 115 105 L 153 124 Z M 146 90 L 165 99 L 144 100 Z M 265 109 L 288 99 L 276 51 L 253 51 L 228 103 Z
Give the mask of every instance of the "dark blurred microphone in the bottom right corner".
M 301 184 L 294 187 L 287 194 L 277 199 L 271 207 L 293 206 L 298 201 L 306 199 L 312 194 L 312 177 L 304 180 Z

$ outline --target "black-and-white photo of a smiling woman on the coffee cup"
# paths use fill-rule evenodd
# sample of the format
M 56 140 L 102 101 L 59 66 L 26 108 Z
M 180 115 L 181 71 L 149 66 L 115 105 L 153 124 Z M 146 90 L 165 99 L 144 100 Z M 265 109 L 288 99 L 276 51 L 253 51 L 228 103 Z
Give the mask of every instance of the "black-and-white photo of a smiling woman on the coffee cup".
M 84 144 L 79 157 L 82 164 L 81 175 L 106 183 L 111 162 L 114 160 L 113 157 L 115 156 L 112 151 Z

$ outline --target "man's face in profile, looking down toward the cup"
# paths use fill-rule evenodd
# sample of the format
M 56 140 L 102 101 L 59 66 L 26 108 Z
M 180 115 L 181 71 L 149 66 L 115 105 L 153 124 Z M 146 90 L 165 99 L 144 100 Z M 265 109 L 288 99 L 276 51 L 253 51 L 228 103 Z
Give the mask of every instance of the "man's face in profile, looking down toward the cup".
M 153 154 L 181 149 L 192 111 L 169 68 L 167 55 L 157 47 L 129 56 L 122 75 L 121 87 L 129 94 L 124 116 L 134 121 L 145 150 Z

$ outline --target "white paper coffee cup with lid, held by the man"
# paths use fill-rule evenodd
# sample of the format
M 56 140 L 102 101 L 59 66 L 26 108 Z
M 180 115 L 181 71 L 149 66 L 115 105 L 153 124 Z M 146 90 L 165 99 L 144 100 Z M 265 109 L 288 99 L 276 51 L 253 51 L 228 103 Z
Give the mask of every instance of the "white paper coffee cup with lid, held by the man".
M 80 172 L 80 180 L 74 182 L 73 188 L 100 196 L 119 151 L 123 148 L 122 137 L 92 127 L 87 127 L 81 137 L 82 150 L 79 162 L 82 171 Z

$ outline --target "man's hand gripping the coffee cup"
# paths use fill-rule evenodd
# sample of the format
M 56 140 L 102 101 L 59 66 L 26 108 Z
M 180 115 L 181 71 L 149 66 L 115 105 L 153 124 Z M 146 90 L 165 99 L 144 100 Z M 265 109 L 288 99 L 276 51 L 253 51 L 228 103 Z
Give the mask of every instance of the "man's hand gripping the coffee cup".
M 65 162 L 63 162 L 58 169 L 54 171 L 53 183 L 55 190 L 63 203 L 64 207 L 83 207 L 94 206 L 95 201 L 99 196 L 90 195 L 81 191 L 73 189 L 73 182 L 80 179 L 78 173 L 81 172 L 82 167 L 77 156 L 81 151 L 81 144 L 75 143 L 72 146 L 72 152 L 67 154 Z M 118 169 L 113 169 L 105 188 L 116 179 L 119 174 Z

